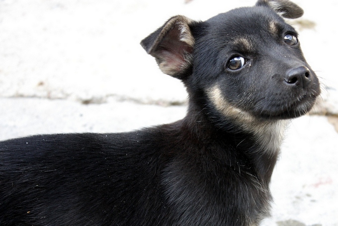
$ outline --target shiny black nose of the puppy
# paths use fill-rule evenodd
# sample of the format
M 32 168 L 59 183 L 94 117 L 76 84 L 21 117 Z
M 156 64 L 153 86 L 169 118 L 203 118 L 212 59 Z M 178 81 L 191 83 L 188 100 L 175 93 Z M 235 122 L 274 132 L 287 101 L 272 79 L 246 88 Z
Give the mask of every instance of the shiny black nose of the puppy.
M 310 70 L 305 66 L 291 69 L 285 76 L 285 82 L 289 86 L 306 88 L 311 82 Z

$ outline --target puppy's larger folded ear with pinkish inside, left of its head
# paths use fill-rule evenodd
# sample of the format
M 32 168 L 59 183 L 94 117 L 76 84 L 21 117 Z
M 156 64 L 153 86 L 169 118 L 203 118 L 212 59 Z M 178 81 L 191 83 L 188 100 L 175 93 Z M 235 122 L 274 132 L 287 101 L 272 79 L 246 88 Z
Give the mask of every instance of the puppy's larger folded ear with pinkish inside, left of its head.
M 148 54 L 156 58 L 160 69 L 175 78 L 183 79 L 192 65 L 195 39 L 185 16 L 171 17 L 162 27 L 142 40 Z

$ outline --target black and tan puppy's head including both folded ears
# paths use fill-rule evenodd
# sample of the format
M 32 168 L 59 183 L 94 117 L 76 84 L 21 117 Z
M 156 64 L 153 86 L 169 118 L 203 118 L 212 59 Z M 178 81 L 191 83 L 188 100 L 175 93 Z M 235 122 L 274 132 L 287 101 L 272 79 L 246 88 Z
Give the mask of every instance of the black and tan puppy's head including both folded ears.
M 283 19 L 302 14 L 289 0 L 258 0 L 204 22 L 174 16 L 141 44 L 183 81 L 191 103 L 243 123 L 293 118 L 320 94 L 298 34 Z

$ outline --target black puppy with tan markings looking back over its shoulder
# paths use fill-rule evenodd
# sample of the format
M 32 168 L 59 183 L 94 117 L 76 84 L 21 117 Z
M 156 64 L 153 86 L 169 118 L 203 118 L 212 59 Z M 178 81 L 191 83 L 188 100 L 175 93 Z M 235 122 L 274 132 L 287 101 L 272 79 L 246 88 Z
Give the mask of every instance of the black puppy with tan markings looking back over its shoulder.
M 170 18 L 142 41 L 189 94 L 185 118 L 115 134 L 0 142 L 1 226 L 257 226 L 284 128 L 320 94 L 288 0 L 201 22 Z

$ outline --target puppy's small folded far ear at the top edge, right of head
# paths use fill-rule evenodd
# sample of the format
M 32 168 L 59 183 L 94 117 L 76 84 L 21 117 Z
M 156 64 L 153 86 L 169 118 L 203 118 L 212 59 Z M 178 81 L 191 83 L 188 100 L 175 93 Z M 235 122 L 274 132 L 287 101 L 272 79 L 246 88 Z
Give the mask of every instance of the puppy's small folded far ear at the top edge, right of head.
M 269 6 L 282 17 L 289 19 L 301 17 L 304 13 L 301 7 L 289 0 L 258 0 L 256 5 Z

